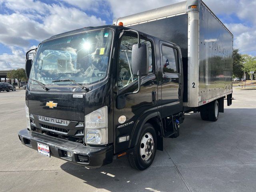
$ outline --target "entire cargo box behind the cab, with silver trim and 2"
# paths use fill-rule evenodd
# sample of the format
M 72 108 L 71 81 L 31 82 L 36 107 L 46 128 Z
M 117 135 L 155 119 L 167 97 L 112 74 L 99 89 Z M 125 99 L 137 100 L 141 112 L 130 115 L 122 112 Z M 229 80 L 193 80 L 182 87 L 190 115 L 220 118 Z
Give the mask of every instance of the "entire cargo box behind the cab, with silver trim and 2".
M 180 46 L 183 106 L 198 107 L 232 93 L 233 35 L 204 2 L 187 0 L 118 22 Z

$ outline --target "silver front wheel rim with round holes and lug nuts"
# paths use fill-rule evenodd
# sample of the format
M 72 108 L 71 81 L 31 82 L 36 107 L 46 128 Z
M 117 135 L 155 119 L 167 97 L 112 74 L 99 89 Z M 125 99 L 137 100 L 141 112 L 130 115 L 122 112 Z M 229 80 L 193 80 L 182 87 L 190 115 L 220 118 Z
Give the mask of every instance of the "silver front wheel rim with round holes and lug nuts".
M 154 138 L 151 133 L 146 133 L 140 142 L 140 157 L 147 161 L 154 152 Z

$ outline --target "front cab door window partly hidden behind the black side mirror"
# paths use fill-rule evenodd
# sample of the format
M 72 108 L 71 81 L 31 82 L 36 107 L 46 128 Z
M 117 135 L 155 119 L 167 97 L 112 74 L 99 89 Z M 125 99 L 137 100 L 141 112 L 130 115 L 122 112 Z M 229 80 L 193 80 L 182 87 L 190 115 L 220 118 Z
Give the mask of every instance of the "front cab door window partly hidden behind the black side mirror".
M 152 67 L 152 44 L 150 41 L 141 39 L 141 43 L 148 45 L 149 50 L 149 67 L 148 73 L 153 70 Z M 138 79 L 137 75 L 132 75 L 132 46 L 138 43 L 138 38 L 133 36 L 123 36 L 119 50 L 118 60 L 118 90 L 128 86 Z

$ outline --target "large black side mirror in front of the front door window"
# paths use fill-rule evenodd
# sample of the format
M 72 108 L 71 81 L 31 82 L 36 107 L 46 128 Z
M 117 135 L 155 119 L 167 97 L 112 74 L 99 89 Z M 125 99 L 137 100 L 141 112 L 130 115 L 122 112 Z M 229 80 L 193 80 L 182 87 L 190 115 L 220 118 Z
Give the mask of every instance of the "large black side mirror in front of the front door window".
M 147 44 L 138 43 L 132 46 L 132 73 L 134 75 L 148 75 L 148 54 Z

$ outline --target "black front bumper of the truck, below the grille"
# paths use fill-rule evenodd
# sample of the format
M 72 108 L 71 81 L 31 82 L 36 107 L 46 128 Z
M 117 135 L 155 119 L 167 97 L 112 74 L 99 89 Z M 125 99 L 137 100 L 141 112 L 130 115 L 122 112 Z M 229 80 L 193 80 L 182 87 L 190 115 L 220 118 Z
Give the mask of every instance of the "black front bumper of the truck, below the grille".
M 86 167 L 100 167 L 113 160 L 113 146 L 90 147 L 81 143 L 55 138 L 27 129 L 20 130 L 18 136 L 22 144 L 37 150 L 37 143 L 50 148 L 50 155 Z M 70 152 L 71 157 L 68 155 Z

